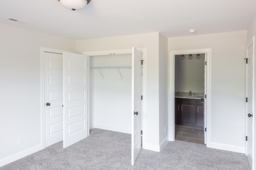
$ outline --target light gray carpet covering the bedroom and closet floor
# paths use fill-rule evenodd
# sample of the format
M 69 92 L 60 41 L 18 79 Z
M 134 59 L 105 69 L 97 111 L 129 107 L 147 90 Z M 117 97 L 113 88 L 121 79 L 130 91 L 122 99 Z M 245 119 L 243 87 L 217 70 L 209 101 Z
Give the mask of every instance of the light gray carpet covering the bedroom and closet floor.
M 169 142 L 161 152 L 142 149 L 131 165 L 131 135 L 92 129 L 90 136 L 62 148 L 62 142 L 0 167 L 0 170 L 250 170 L 245 154 Z

